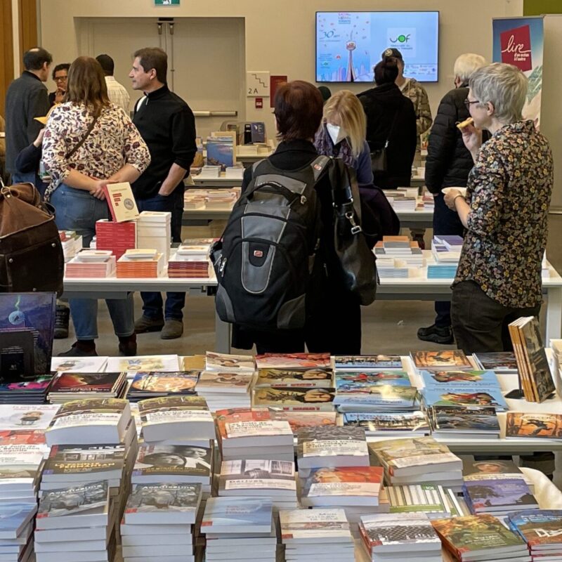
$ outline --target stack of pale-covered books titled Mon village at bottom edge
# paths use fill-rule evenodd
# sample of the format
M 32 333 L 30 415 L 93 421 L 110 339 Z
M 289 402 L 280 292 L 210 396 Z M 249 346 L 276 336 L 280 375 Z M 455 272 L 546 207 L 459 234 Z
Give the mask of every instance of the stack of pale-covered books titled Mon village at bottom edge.
M 287 562 L 355 560 L 355 544 L 343 509 L 295 509 L 279 514 Z

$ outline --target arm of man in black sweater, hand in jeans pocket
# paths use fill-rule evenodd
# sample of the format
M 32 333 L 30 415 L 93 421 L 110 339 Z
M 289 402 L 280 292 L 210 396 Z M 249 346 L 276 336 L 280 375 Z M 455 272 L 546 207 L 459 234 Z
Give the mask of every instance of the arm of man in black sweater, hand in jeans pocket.
M 159 195 L 164 197 L 170 195 L 185 178 L 197 152 L 195 117 L 190 109 L 179 111 L 172 117 L 171 136 L 174 164 L 171 165 L 168 176 L 158 191 Z

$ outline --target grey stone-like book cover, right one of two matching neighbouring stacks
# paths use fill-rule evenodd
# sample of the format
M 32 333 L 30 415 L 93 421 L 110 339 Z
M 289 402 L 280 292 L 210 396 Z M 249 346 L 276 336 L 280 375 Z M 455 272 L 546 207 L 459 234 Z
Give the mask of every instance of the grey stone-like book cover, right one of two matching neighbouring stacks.
M 133 484 L 125 507 L 125 518 L 127 514 L 157 514 L 159 511 L 192 512 L 195 516 L 200 500 L 200 483 Z

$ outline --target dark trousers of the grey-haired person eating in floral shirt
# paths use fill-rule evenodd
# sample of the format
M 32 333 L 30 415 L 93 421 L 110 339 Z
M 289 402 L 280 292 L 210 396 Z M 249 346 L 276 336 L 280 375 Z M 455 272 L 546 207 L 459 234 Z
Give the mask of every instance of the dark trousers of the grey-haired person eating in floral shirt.
M 530 308 L 503 306 L 483 292 L 475 281 L 452 289 L 451 320 L 457 347 L 464 353 L 513 351 L 508 325 L 521 316 L 537 316 L 540 304 Z

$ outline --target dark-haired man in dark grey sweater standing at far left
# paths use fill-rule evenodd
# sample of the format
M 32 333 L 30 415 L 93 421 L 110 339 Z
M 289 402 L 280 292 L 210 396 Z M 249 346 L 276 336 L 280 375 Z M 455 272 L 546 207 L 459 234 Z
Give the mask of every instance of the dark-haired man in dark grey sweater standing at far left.
M 37 138 L 44 126 L 35 117 L 44 117 L 50 107 L 43 83 L 48 79 L 48 68 L 52 62 L 51 53 L 44 48 L 26 51 L 23 55 L 25 70 L 6 92 L 6 170 L 12 175 L 12 183 L 29 182 L 37 188 L 42 187 L 37 172 L 20 172 L 15 166 L 15 159 Z

